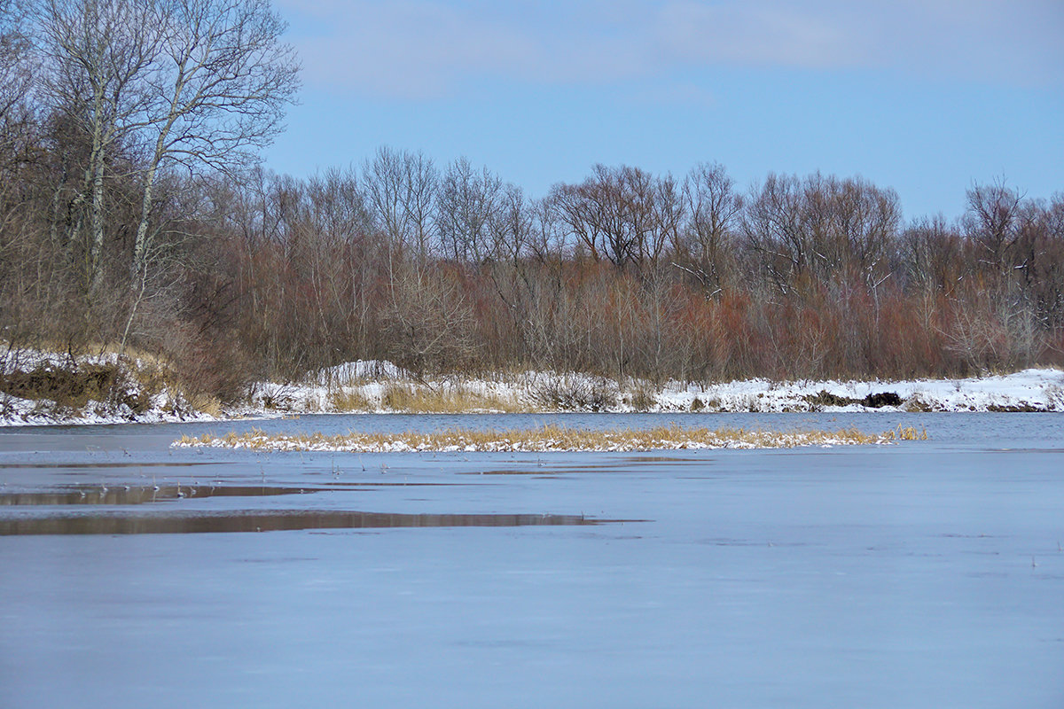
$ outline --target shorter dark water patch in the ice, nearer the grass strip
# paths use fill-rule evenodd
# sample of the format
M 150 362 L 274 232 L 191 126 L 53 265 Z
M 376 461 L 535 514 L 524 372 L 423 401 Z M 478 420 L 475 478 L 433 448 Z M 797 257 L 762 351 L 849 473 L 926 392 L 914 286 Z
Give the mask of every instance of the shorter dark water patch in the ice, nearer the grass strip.
M 51 492 L 0 493 L 0 507 L 23 505 L 144 505 L 202 497 L 263 497 L 317 492 L 316 488 L 266 485 L 147 485 L 77 486 Z

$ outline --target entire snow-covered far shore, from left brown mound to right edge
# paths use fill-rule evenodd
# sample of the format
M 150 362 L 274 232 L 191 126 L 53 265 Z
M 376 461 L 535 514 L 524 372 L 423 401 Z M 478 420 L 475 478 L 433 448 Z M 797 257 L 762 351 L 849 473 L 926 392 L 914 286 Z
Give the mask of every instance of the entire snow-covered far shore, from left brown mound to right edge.
M 262 382 L 245 403 L 214 411 L 198 409 L 161 382 L 151 366 L 102 356 L 77 368 L 119 371 L 122 395 L 59 406 L 46 398 L 18 396 L 13 373 L 67 367 L 57 355 L 34 354 L 4 362 L 0 425 L 100 424 L 266 418 L 335 412 L 492 411 L 1064 411 L 1064 371 L 1028 369 L 963 379 L 876 382 L 748 379 L 728 383 L 669 382 L 662 386 L 576 373 L 525 372 L 492 378 L 418 381 L 390 362 L 356 361 L 329 368 L 303 383 Z M 153 373 L 154 372 L 154 373 Z M 153 382 L 146 377 L 154 377 Z M 39 394 L 39 392 L 38 392 Z

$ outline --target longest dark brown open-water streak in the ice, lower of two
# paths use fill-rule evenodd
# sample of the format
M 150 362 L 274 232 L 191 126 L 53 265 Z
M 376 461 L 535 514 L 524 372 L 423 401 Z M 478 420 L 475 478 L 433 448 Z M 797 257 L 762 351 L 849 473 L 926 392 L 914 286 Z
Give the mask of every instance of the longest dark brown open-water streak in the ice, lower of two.
M 163 535 L 384 527 L 521 527 L 594 525 L 625 521 L 634 520 L 596 520 L 577 514 L 402 514 L 331 510 L 54 514 L 0 519 L 0 536 Z

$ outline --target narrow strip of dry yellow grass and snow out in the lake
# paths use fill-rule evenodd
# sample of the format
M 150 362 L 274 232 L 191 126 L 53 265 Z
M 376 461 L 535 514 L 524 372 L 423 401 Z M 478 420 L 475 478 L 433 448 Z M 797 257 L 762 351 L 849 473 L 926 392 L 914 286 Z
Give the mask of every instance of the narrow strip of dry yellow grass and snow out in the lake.
M 841 431 L 746 431 L 744 428 L 680 428 L 587 431 L 548 425 L 505 432 L 451 429 L 440 433 L 323 434 L 229 433 L 221 437 L 182 436 L 177 445 L 239 448 L 256 451 L 658 451 L 670 449 L 775 449 L 799 445 L 869 445 L 898 440 L 926 440 L 915 428 L 865 434 Z

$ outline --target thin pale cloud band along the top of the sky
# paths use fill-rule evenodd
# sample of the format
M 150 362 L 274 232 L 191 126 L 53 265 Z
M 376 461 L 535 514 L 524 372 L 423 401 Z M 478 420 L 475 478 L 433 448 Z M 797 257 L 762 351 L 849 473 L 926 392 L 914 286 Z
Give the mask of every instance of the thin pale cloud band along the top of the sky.
M 287 3 L 287 4 L 285 4 Z M 449 96 L 482 79 L 539 85 L 661 81 L 718 66 L 1059 84 L 1058 0 L 487 3 L 318 2 L 295 18 L 309 82 Z

